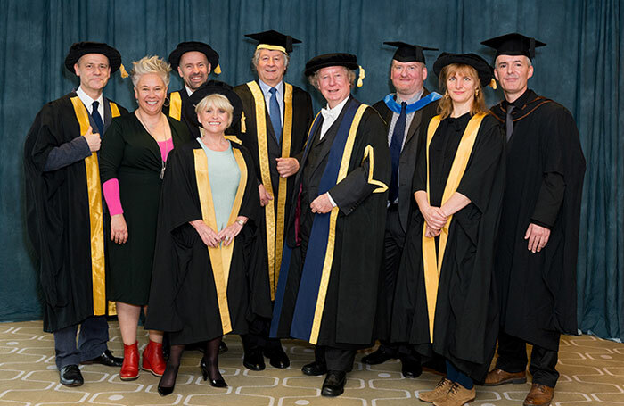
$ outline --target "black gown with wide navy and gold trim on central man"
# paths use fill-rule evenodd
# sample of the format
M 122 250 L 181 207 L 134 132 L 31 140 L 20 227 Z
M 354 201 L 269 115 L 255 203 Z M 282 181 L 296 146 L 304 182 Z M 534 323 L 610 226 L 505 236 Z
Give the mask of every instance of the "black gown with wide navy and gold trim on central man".
M 383 120 L 371 107 L 366 107 L 350 155 L 347 176 L 329 189 L 333 200 L 338 204 L 333 209 L 336 213 L 335 233 L 326 237 L 334 243 L 331 268 L 326 279 L 324 301 L 320 292 L 324 291 L 323 278 L 318 284 L 307 284 L 313 279 L 313 272 L 304 271 L 304 263 L 315 255 L 310 254 L 312 236 L 307 246 L 308 258 L 301 258 L 298 233 L 301 228 L 314 228 L 313 224 L 304 223 L 312 220 L 321 221 L 327 214 L 313 214 L 309 203 L 321 195 L 318 189 L 326 167 L 331 164 L 330 157 L 341 162 L 339 155 L 333 155 L 332 146 L 338 139 L 338 128 L 350 108 L 357 108 L 359 102 L 352 96 L 343 107 L 338 119 L 319 139 L 323 117 L 316 118 L 316 131 L 310 135 L 310 147 L 301 158 L 300 171 L 295 178 L 294 188 L 300 195 L 293 196 L 287 228 L 286 244 L 291 249 L 290 266 L 282 265 L 278 293 L 271 326 L 271 336 L 293 336 L 312 344 L 332 347 L 354 348 L 370 346 L 374 341 L 374 316 L 378 294 L 379 271 L 381 269 L 385 211 L 388 200 L 387 185 L 390 182 L 390 151 Z M 350 128 L 347 123 L 347 130 Z M 333 162 L 336 163 L 336 162 Z M 335 179 L 335 178 L 334 178 Z M 334 180 L 335 182 L 335 180 Z M 298 203 L 298 201 L 300 203 Z M 300 226 L 300 227 L 299 227 Z M 286 249 L 284 249 L 286 250 Z M 284 257 L 287 257 L 284 253 Z M 325 260 L 323 260 L 325 258 Z M 320 261 L 327 261 L 324 255 Z M 325 262 L 327 263 L 327 262 Z M 309 278 L 308 278 L 309 277 Z M 318 302 L 316 302 L 318 301 Z M 318 335 L 309 335 L 307 327 L 313 326 L 312 319 L 300 317 L 302 303 L 318 303 L 320 312 Z M 314 304 L 312 304 L 314 306 Z M 320 310 L 322 306 L 322 311 Z

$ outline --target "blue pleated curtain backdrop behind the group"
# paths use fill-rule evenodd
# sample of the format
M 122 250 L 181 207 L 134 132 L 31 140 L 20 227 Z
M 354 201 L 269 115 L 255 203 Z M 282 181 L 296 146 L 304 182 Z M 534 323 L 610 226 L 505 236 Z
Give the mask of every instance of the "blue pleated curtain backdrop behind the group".
M 480 41 L 518 31 L 546 42 L 534 60 L 530 87 L 565 105 L 577 120 L 587 158 L 579 247 L 579 328 L 624 337 L 624 6 L 619 0 L 0 0 L 0 320 L 40 317 L 37 264 L 24 223 L 22 148 L 46 102 L 78 81 L 63 68 L 73 42 L 104 41 L 127 69 L 146 54 L 167 57 L 184 40 L 201 40 L 221 57 L 218 79 L 253 78 L 250 32 L 276 29 L 303 41 L 291 54 L 286 80 L 302 75 L 316 54 L 349 52 L 366 70 L 355 95 L 372 104 L 390 92 L 393 49 L 403 40 L 491 60 Z M 438 53 L 428 53 L 428 66 Z M 436 89 L 430 70 L 426 86 Z M 119 74 L 105 94 L 130 110 L 132 85 Z M 173 77 L 170 88 L 181 87 Z M 502 98 L 489 91 L 490 104 Z

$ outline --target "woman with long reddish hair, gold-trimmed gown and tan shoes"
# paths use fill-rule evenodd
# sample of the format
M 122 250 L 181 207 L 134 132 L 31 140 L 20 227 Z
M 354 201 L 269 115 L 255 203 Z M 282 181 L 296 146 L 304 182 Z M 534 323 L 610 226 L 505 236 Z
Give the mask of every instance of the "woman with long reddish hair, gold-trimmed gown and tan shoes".
M 433 65 L 445 90 L 418 158 L 415 211 L 393 310 L 393 339 L 447 360 L 447 377 L 424 402 L 460 406 L 475 398 L 496 344 L 493 253 L 504 192 L 505 138 L 483 87 L 492 69 L 475 54 L 441 54 Z

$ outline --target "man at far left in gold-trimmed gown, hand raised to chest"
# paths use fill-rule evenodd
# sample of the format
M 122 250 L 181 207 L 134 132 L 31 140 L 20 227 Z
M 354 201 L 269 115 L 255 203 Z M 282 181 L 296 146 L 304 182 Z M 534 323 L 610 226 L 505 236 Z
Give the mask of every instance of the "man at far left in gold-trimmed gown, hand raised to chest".
M 120 65 L 121 55 L 106 44 L 71 46 L 65 67 L 80 86 L 45 104 L 24 145 L 29 236 L 45 296 L 44 330 L 54 334 L 62 385 L 83 384 L 80 362 L 121 366 L 106 345 L 109 303 L 97 159 L 112 118 L 127 113 L 102 95 Z

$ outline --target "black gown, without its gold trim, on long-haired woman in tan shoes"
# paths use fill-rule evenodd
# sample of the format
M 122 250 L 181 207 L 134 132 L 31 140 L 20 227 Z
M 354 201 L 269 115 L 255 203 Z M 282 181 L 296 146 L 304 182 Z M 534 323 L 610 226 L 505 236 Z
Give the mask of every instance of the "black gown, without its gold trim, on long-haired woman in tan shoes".
M 469 113 L 442 120 L 429 146 L 430 203 L 439 207 L 451 165 L 464 134 Z M 498 301 L 493 256 L 501 202 L 505 190 L 505 140 L 497 120 L 487 115 L 480 124 L 457 192 L 471 200 L 450 222 L 439 272 L 433 321 L 433 342 L 423 269 L 423 225 L 414 211 L 392 313 L 391 339 L 409 343 L 425 356 L 436 352 L 476 381 L 488 372 L 494 354 Z M 426 147 L 418 158 L 413 192 L 427 190 Z M 436 238 L 436 256 L 439 237 Z

